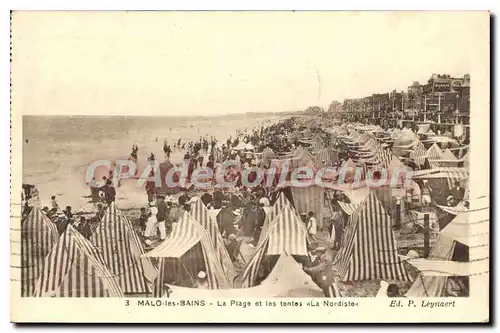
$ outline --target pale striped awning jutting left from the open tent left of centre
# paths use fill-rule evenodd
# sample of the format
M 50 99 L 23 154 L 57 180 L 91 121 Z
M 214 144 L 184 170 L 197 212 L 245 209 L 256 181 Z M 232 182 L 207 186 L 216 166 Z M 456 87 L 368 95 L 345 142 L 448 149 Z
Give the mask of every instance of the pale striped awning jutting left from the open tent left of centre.
M 172 224 L 170 236 L 158 247 L 146 253 L 150 258 L 180 258 L 201 240 L 194 219 L 185 212 L 177 223 Z

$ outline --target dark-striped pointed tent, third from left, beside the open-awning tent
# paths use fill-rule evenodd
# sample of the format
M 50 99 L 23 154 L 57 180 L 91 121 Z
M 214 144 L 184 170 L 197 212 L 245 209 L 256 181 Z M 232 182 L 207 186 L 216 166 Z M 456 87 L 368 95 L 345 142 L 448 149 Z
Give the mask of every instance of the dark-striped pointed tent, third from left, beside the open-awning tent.
M 102 253 L 110 272 L 125 294 L 147 294 L 157 275 L 130 221 L 112 203 L 90 241 Z

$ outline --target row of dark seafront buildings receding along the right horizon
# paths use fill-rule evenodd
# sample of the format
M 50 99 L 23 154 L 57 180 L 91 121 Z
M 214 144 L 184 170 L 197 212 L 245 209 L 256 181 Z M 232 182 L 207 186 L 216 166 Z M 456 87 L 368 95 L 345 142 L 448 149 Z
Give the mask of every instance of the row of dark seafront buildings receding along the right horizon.
M 333 104 L 332 104 L 333 105 Z M 426 84 L 413 82 L 407 91 L 372 94 L 345 99 L 335 104 L 335 112 L 361 117 L 398 118 L 417 121 L 468 123 L 470 114 L 470 75 L 451 77 L 432 74 Z

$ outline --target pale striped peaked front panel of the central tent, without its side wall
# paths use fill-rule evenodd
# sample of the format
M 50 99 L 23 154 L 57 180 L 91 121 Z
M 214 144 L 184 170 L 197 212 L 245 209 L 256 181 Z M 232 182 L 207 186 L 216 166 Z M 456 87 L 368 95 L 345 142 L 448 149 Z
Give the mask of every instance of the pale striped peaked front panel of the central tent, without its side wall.
M 286 206 L 269 227 L 267 254 L 307 255 L 307 231 L 290 206 Z

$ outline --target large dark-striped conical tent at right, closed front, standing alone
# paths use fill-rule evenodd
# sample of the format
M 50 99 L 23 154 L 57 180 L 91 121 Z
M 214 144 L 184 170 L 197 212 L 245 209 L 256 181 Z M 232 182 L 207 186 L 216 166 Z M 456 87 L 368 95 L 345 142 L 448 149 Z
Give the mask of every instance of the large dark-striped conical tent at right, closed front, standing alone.
M 398 257 L 390 216 L 373 192 L 350 216 L 335 266 L 343 281 L 410 280 Z

